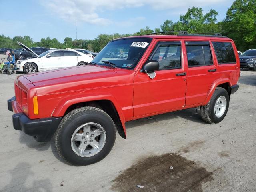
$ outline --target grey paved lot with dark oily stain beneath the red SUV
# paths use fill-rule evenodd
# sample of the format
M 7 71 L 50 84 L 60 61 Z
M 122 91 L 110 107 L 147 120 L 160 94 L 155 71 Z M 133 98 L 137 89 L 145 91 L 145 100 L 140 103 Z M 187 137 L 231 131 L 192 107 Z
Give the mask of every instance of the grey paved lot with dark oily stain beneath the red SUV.
M 127 122 L 128 138 L 117 135 L 104 160 L 84 167 L 13 129 L 6 100 L 15 77 L 0 75 L 0 191 L 256 191 L 256 72 L 242 71 L 219 124 L 195 108 Z

